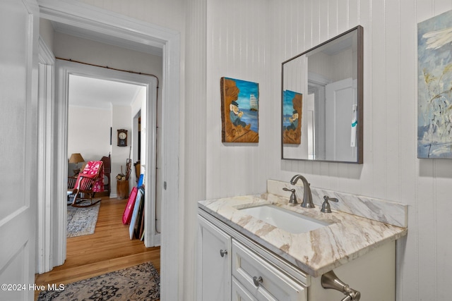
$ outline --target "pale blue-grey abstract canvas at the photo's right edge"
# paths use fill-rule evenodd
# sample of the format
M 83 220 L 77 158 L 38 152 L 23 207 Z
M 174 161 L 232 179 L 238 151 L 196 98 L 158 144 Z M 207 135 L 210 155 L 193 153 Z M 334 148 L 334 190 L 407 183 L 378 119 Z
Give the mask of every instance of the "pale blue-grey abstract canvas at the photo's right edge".
M 452 11 L 417 25 L 417 157 L 452 158 Z

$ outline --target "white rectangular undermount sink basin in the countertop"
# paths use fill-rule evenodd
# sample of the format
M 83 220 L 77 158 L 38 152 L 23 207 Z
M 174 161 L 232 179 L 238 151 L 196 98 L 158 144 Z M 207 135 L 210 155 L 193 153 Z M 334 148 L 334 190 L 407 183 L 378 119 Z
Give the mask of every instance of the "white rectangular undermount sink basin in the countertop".
M 290 233 L 307 233 L 317 228 L 329 225 L 329 223 L 324 221 L 312 219 L 309 216 L 297 214 L 296 212 L 270 204 L 248 207 L 239 210 L 244 214 L 254 216 L 256 219 L 270 223 L 270 225 Z

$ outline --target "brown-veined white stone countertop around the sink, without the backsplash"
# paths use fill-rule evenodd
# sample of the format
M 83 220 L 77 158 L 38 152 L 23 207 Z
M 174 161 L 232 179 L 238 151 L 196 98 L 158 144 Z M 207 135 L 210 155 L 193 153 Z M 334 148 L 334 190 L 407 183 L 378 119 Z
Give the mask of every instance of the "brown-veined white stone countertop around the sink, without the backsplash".
M 200 201 L 198 207 L 314 277 L 408 233 L 407 228 L 341 211 L 326 214 L 319 206 L 315 209 L 305 209 L 299 204 L 290 206 L 287 201 L 287 197 L 266 192 Z M 294 234 L 238 210 L 261 204 L 273 204 L 330 225 Z

